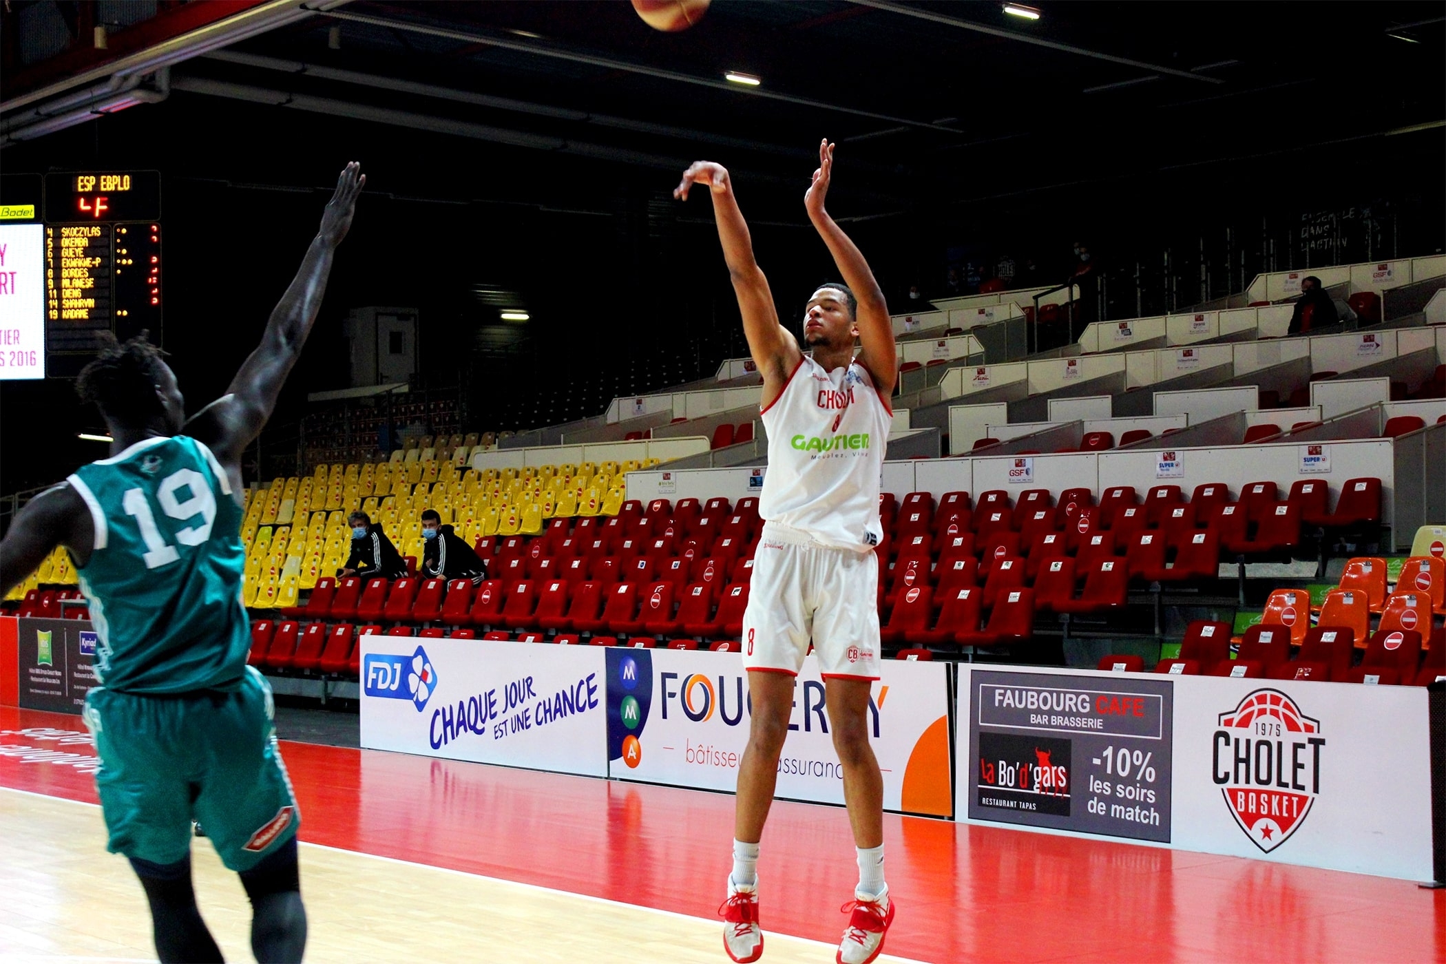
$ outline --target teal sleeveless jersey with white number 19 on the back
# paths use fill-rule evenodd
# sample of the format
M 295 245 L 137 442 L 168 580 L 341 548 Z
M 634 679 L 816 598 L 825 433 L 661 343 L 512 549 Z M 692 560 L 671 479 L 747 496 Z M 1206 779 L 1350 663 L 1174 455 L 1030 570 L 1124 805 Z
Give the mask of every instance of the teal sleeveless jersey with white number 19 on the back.
M 95 543 L 77 569 L 95 624 L 95 675 L 121 692 L 234 688 L 250 623 L 241 607 L 241 507 L 201 442 L 147 438 L 68 478 Z

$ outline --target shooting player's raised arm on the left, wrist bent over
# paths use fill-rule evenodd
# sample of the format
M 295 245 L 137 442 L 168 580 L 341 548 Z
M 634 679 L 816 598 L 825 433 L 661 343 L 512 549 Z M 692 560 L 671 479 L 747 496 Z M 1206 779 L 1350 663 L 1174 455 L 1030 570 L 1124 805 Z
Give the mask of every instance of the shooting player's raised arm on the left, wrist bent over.
M 743 314 L 743 334 L 748 337 L 749 354 L 763 376 L 766 406 L 784 390 L 788 376 L 803 360 L 803 351 L 794 335 L 778 324 L 774 293 L 768 288 L 763 270 L 753 259 L 753 240 L 749 237 L 743 212 L 737 208 L 727 171 L 711 160 L 698 160 L 683 172 L 683 182 L 672 197 L 687 201 L 688 189 L 694 184 L 706 186 L 713 197 L 713 217 L 719 225 L 719 240 L 723 243 L 723 260 L 727 262 L 737 306 Z

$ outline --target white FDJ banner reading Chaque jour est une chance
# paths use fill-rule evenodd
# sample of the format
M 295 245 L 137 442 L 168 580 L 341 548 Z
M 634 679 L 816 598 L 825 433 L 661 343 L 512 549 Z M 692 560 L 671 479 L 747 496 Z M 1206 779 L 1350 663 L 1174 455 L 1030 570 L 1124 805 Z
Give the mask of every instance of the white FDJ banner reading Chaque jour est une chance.
M 363 636 L 362 746 L 607 776 L 603 653 Z

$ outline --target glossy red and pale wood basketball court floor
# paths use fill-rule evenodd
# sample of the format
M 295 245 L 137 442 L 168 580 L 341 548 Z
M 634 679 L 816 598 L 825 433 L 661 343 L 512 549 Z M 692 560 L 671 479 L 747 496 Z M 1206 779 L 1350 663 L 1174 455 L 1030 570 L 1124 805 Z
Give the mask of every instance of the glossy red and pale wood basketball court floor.
M 732 796 L 283 743 L 302 806 L 308 960 L 726 961 Z M 104 853 L 77 717 L 0 708 L 0 958 L 155 960 Z M 886 817 L 918 961 L 1446 960 L 1446 893 L 1258 860 Z M 201 912 L 250 960 L 250 909 L 204 840 Z M 831 961 L 856 869 L 837 808 L 775 805 L 765 961 Z

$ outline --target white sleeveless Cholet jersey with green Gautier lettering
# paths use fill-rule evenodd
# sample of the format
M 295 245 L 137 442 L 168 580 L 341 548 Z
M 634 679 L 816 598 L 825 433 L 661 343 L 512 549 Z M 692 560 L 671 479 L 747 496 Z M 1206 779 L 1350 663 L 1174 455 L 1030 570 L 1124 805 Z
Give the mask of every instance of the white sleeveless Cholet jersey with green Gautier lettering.
M 868 552 L 884 538 L 879 473 L 894 413 L 857 361 L 824 371 L 804 356 L 761 413 L 768 473 L 758 512 L 839 549 Z

